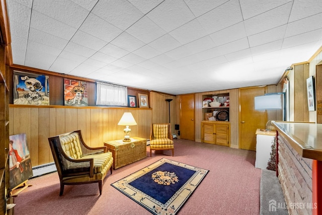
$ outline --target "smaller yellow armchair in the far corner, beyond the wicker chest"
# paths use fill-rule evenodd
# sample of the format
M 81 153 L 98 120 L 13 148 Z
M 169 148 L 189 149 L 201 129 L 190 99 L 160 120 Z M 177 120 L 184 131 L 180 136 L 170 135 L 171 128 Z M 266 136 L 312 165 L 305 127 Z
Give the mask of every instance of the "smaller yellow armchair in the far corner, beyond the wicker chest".
M 170 123 L 152 124 L 150 133 L 150 157 L 152 157 L 152 150 L 172 150 L 172 156 L 174 156 L 175 149 Z

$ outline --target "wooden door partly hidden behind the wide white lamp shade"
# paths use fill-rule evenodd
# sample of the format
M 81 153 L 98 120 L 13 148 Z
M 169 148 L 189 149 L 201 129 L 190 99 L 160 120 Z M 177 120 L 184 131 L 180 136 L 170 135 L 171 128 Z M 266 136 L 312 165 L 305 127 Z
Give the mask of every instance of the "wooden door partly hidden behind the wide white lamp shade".
M 255 110 L 255 96 L 263 96 L 265 87 L 239 89 L 239 148 L 256 151 L 256 129 L 265 128 L 265 110 Z

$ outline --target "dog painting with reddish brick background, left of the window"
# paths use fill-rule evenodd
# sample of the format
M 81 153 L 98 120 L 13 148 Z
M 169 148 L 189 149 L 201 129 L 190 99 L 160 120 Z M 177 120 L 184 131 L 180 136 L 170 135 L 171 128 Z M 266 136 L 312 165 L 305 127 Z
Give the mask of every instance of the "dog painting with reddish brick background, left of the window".
M 87 83 L 64 79 L 65 106 L 88 106 Z

